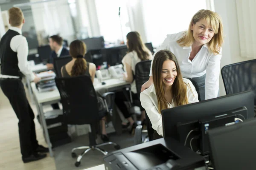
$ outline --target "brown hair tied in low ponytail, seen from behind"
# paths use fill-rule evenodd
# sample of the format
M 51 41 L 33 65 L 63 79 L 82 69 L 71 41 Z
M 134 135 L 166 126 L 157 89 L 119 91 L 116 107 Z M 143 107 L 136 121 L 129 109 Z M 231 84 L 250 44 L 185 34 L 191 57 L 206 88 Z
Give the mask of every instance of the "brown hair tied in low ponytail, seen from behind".
M 83 58 L 86 53 L 86 45 L 80 40 L 74 40 L 70 43 L 70 55 L 76 58 L 71 69 L 71 76 L 81 76 L 87 70 L 87 62 Z

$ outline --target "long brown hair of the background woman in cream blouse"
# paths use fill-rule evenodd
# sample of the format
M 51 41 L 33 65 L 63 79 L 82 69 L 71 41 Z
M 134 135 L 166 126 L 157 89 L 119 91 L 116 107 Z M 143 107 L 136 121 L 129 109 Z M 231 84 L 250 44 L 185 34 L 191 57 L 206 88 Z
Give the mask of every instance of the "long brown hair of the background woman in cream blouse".
M 128 40 L 128 51 L 136 51 L 142 61 L 147 60 L 149 50 L 142 42 L 140 34 L 137 31 L 131 31 L 126 35 L 126 38 Z

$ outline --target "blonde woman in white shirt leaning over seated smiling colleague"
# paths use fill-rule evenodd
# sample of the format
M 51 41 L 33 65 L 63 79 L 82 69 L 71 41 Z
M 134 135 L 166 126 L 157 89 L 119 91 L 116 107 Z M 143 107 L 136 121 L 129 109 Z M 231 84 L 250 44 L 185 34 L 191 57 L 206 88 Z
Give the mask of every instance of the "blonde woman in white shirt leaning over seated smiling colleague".
M 168 49 L 175 54 L 182 77 L 192 78 L 198 83 L 201 100 L 212 99 L 218 96 L 223 42 L 221 17 L 202 9 L 192 17 L 188 31 L 167 35 L 157 51 Z M 141 91 L 152 83 L 151 72 Z

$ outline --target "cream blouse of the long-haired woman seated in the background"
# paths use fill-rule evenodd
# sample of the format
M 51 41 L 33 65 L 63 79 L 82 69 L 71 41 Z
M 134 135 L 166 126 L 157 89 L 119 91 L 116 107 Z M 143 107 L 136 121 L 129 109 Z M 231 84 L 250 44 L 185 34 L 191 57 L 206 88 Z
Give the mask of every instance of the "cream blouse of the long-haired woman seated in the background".
M 150 51 L 148 51 L 149 57 L 148 59 L 152 59 L 152 54 Z M 126 72 L 125 63 L 131 66 L 131 70 L 133 71 L 133 74 L 135 75 L 135 65 L 141 62 L 141 59 L 138 57 L 138 54 L 136 51 L 131 51 L 125 55 L 125 57 L 122 59 L 122 64 L 124 65 L 124 70 Z M 137 88 L 136 88 L 136 82 L 135 80 L 131 83 L 131 91 L 134 94 L 137 94 Z

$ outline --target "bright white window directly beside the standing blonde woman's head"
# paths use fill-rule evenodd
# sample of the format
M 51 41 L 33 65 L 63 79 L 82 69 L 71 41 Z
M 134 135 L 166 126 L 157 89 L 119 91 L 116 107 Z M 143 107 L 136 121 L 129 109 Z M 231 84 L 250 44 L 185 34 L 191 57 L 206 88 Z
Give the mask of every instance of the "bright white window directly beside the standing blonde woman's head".
M 142 0 L 145 34 L 159 46 L 167 34 L 187 30 L 193 15 L 206 9 L 206 0 Z

